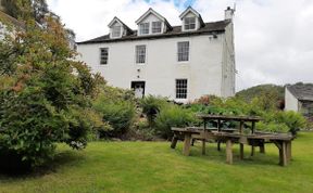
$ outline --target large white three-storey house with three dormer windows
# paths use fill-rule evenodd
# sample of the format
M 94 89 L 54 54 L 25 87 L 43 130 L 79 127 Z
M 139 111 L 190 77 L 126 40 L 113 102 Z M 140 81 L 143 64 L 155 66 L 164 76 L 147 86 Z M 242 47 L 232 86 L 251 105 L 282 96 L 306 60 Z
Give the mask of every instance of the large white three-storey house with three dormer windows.
M 114 87 L 134 89 L 137 97 L 167 97 L 188 102 L 205 94 L 235 94 L 235 10 L 225 20 L 204 23 L 188 8 L 180 26 L 149 9 L 130 29 L 117 17 L 110 34 L 78 42 L 80 60 Z

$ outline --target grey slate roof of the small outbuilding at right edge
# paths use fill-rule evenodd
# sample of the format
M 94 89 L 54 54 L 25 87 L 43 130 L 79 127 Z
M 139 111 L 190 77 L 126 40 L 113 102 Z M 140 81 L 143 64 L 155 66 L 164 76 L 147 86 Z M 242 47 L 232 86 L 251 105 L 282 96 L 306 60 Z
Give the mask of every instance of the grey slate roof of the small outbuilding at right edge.
M 313 101 L 313 83 L 296 83 L 288 86 L 287 89 L 299 101 Z

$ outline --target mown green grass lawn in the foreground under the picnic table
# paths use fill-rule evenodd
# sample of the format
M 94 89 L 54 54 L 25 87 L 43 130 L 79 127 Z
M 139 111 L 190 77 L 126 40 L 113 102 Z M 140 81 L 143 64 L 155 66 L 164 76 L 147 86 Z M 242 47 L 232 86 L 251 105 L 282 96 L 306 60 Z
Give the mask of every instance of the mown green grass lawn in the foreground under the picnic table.
M 197 143 L 191 155 L 181 155 L 168 142 L 95 142 L 75 152 L 60 145 L 55 164 L 46 172 L 0 176 L 0 192 L 313 192 L 313 132 L 300 133 L 292 144 L 293 160 L 278 163 L 278 150 L 225 164 L 225 146 L 209 144 L 201 155 Z M 249 150 L 246 152 L 249 156 Z

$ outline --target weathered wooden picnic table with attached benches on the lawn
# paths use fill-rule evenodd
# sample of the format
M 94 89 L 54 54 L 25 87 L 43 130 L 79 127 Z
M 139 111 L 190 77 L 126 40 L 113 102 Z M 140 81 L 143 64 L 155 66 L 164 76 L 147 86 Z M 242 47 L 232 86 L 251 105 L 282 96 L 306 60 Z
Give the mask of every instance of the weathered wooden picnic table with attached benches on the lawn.
M 240 158 L 243 158 L 243 144 L 252 146 L 251 155 L 254 154 L 254 146 L 260 146 L 260 152 L 265 153 L 264 143 L 274 143 L 279 150 L 279 164 L 286 166 L 291 159 L 291 141 L 293 136 L 289 133 L 262 133 L 255 132 L 255 123 L 260 121 L 259 117 L 243 117 L 243 116 L 221 116 L 221 115 L 199 115 L 204 120 L 204 128 L 172 128 L 174 137 L 171 147 L 175 149 L 178 139 L 184 138 L 183 154 L 188 156 L 190 153 L 191 139 L 197 138 L 202 140 L 202 154 L 205 154 L 205 141 L 211 139 L 221 143 L 226 142 L 226 163 L 233 164 L 233 144 L 240 144 Z M 217 120 L 217 129 L 208 129 L 208 120 Z M 223 131 L 221 128 L 222 120 L 239 121 L 239 132 L 234 132 L 234 129 Z M 252 123 L 251 133 L 245 134 L 243 124 L 246 121 Z M 220 124 L 218 124 L 220 123 Z M 231 131 L 233 130 L 233 131 Z M 220 144 L 218 144 L 220 147 Z M 221 149 L 220 149 L 221 150 Z

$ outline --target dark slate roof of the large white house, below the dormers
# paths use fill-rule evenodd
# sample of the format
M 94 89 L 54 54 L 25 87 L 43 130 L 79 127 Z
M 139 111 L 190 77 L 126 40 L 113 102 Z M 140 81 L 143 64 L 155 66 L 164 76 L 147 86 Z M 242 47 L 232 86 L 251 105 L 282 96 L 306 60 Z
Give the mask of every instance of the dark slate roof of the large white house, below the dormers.
M 205 34 L 221 34 L 225 31 L 225 27 L 231 23 L 230 20 L 218 21 L 205 23 L 205 25 L 198 30 L 193 31 L 181 31 L 181 26 L 174 26 L 172 30 L 168 30 L 160 35 L 147 35 L 147 36 L 137 36 L 137 30 L 134 30 L 133 35 L 123 36 L 122 38 L 110 39 L 110 35 L 100 36 L 95 39 L 87 41 L 77 42 L 77 44 L 91 44 L 91 43 L 102 43 L 102 42 L 118 42 L 118 41 L 133 41 L 141 39 L 162 39 L 162 38 L 172 38 L 172 37 L 188 37 Z

